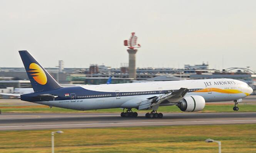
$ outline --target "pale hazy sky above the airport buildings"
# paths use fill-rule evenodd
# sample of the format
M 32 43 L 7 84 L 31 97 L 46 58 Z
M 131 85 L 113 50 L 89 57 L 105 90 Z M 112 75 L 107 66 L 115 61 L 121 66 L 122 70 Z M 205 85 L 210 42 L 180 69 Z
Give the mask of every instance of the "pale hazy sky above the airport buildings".
M 19 50 L 44 67 L 136 66 L 256 71 L 256 0 L 1 0 L 0 67 L 23 67 Z

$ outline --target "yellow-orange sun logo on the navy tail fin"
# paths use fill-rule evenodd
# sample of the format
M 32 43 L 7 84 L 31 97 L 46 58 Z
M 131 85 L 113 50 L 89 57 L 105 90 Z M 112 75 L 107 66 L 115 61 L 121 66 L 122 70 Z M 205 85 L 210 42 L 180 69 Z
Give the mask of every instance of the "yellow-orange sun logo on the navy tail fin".
M 32 69 L 31 71 L 28 72 L 35 72 L 33 74 L 30 74 L 35 79 L 36 82 L 38 82 L 40 85 L 45 85 L 47 83 L 47 77 L 46 74 L 44 73 L 44 70 L 37 64 L 31 63 L 29 65 L 29 69 Z

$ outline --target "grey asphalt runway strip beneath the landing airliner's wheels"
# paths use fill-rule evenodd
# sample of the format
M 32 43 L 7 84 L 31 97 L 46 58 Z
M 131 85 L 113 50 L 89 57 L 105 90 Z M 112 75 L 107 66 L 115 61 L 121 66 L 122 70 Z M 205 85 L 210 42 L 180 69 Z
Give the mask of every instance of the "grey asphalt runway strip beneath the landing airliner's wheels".
M 163 113 L 162 119 L 122 118 L 119 113 L 2 113 L 0 130 L 256 123 L 256 113 Z

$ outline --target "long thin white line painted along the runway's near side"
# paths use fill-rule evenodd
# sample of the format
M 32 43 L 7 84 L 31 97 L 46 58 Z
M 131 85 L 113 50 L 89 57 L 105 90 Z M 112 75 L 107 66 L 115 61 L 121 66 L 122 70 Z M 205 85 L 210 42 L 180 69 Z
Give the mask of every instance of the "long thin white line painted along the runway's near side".
M 248 122 L 255 121 L 256 119 L 248 120 L 215 120 L 215 121 L 173 121 L 173 122 L 119 122 L 119 123 L 83 123 L 83 124 L 57 124 L 57 125 L 12 125 L 12 126 L 0 126 L 3 127 L 43 127 L 43 126 L 70 126 L 70 125 L 120 125 L 120 124 L 157 124 L 157 123 L 193 123 L 193 122 Z

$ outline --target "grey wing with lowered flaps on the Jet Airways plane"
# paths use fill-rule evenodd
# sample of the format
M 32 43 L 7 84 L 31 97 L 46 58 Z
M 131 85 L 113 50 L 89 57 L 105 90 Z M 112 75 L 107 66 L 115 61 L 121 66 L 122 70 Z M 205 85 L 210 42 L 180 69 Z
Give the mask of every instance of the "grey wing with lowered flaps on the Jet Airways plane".
M 140 102 L 139 110 L 149 109 L 154 106 L 158 107 L 163 102 L 177 103 L 181 99 L 183 99 L 183 97 L 186 95 L 186 93 L 188 91 L 189 90 L 187 88 L 180 88 L 179 90 L 174 91 L 172 93 L 164 94 L 164 95 L 158 96 L 158 97 L 152 97 L 148 100 Z

